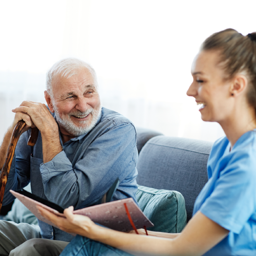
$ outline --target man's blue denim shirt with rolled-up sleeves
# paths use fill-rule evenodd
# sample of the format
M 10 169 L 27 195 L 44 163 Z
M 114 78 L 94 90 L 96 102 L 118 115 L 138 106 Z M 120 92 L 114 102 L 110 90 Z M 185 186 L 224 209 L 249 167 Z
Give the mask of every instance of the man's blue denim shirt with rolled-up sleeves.
M 55 116 L 53 114 L 53 116 Z M 43 163 L 39 132 L 35 146 L 27 145 L 30 132 L 20 136 L 12 161 L 3 204 L 14 197 L 10 189 L 31 182 L 32 193 L 63 208 L 81 209 L 99 200 L 118 177 L 113 200 L 132 197 L 136 201 L 138 152 L 136 130 L 124 116 L 102 108 L 96 126 L 87 134 L 62 144 L 63 151 Z M 71 241 L 74 237 L 38 220 L 42 238 Z

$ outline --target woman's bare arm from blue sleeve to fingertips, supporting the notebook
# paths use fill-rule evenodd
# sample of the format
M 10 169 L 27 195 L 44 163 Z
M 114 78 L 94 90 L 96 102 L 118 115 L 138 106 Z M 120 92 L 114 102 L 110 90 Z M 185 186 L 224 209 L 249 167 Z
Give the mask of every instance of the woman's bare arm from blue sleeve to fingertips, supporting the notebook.
M 133 254 L 139 252 L 147 255 L 203 255 L 229 232 L 200 211 L 189 221 L 182 233 L 176 234 L 174 239 L 166 239 L 165 236 L 140 236 L 133 232 L 129 234 L 98 226 L 88 217 L 73 215 L 73 207 L 64 211 L 67 219 L 58 217 L 42 207 L 37 208 L 42 216 L 66 232 L 77 233 Z

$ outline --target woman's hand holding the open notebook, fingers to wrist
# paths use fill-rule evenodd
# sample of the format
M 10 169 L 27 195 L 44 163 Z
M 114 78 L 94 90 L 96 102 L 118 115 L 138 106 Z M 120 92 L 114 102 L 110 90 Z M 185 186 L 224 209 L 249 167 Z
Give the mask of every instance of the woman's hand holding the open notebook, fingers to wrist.
M 92 233 L 91 230 L 97 226 L 90 218 L 79 214 L 73 214 L 73 206 L 64 210 L 66 218 L 59 217 L 40 206 L 37 206 L 37 209 L 41 216 L 54 223 L 59 229 L 68 233 L 80 234 L 81 236 L 90 238 L 90 234 Z

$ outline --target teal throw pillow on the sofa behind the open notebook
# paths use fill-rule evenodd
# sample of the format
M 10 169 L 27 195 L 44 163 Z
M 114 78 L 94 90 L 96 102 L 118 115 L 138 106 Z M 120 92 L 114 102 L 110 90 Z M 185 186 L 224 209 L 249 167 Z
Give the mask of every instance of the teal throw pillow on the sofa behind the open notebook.
M 185 200 L 179 192 L 138 185 L 136 198 L 144 215 L 154 224 L 148 230 L 179 233 L 185 227 Z

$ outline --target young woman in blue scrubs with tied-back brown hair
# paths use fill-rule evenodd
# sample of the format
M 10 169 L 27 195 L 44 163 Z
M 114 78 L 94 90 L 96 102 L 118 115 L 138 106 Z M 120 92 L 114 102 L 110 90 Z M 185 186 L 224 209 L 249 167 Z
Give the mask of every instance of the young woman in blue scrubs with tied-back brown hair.
M 123 233 L 65 210 L 67 219 L 40 208 L 60 229 L 77 233 L 63 255 L 256 255 L 256 33 L 227 29 L 208 37 L 191 68 L 187 95 L 204 121 L 226 137 L 212 146 L 209 180 L 194 216 L 179 234 Z M 143 234 L 143 231 L 140 231 Z

